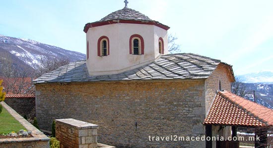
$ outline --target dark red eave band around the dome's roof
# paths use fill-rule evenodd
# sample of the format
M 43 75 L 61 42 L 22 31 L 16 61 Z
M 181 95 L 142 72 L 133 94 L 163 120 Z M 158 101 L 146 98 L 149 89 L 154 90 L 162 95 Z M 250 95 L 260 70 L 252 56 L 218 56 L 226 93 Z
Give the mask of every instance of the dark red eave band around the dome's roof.
M 139 20 L 119 20 L 119 19 L 116 19 L 116 20 L 109 20 L 109 21 L 103 21 L 103 22 L 87 23 L 87 24 L 85 24 L 83 31 L 85 33 L 87 33 L 89 28 L 110 25 L 110 24 L 117 24 L 117 23 L 155 25 L 155 26 L 160 27 L 164 30 L 170 29 L 169 26 L 163 25 L 157 21 L 139 21 Z

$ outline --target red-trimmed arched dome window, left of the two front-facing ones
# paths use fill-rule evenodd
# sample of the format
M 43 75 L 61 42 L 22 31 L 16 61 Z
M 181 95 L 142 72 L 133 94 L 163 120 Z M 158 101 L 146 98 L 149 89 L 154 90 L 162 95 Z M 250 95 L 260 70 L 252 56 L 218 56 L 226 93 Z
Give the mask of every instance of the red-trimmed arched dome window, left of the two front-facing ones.
M 98 39 L 98 56 L 110 55 L 109 38 L 102 36 Z

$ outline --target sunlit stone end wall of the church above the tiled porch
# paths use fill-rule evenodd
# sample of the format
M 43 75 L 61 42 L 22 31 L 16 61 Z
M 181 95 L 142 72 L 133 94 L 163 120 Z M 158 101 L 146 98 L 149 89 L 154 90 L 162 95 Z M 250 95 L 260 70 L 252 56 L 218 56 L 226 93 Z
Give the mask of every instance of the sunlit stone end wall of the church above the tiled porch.
M 219 81 L 221 81 L 221 89 L 231 91 L 231 81 L 227 75 L 227 70 L 218 65 L 214 72 L 205 80 L 205 111 L 207 112 L 211 102 L 219 90 Z

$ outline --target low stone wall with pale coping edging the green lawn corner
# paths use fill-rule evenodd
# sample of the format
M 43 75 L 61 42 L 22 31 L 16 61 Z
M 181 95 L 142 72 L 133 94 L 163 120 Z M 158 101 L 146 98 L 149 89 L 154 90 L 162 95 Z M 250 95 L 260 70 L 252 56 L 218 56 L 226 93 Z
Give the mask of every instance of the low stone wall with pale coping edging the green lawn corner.
M 0 139 L 0 148 L 49 148 L 50 139 L 46 135 L 30 124 L 7 104 L 4 102 L 0 102 L 0 104 L 28 131 L 31 131 L 31 135 L 33 136 L 32 138 Z

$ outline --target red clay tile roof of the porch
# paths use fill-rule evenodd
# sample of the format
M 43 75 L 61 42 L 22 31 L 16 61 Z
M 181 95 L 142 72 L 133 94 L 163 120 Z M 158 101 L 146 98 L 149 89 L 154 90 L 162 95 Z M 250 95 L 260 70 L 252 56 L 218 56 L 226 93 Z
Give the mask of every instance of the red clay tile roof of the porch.
M 205 125 L 273 126 L 273 110 L 228 91 L 216 94 Z

